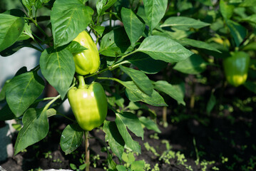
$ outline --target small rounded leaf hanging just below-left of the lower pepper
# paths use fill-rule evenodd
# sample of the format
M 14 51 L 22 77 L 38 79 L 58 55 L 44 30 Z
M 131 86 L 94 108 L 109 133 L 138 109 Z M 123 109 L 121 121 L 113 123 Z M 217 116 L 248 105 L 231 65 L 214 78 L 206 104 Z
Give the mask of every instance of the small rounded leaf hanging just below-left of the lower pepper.
M 67 125 L 61 134 L 61 150 L 65 154 L 70 154 L 81 145 L 83 140 L 83 130 L 76 124 Z

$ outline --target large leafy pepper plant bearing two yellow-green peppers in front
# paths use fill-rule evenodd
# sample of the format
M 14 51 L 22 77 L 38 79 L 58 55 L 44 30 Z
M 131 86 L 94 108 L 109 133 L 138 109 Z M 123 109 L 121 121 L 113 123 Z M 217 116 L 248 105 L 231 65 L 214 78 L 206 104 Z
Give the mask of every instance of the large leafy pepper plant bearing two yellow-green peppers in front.
M 111 149 L 107 151 L 108 169 L 123 168 L 112 160 L 113 154 L 123 160 L 126 148 L 140 153 L 140 144 L 128 130 L 142 139 L 143 127 L 160 132 L 153 115 L 138 117 L 133 110 L 143 108 L 150 113 L 147 105 L 167 106 L 163 95 L 185 105 L 180 86 L 173 86 L 170 79 L 150 80 L 150 76 L 169 70 L 170 66 L 180 73 L 202 73 L 213 64 L 207 54 L 221 53 L 218 47 L 196 37 L 205 28 L 208 40 L 216 41 L 209 30 L 210 26 L 213 28 L 211 22 L 217 21 L 193 19 L 183 12 L 187 9 L 176 9 L 168 0 L 98 0 L 95 6 L 86 0 L 22 0 L 21 4 L 22 10 L 0 14 L 0 54 L 7 57 L 29 47 L 41 52 L 41 56 L 39 66 L 31 71 L 21 68 L 6 81 L 0 93 L 0 100 L 6 102 L 0 110 L 0 120 L 15 118 L 23 123 L 14 155 L 46 137 L 48 118 L 68 118 L 56 110 L 68 98 L 76 120 L 69 118 L 71 123 L 63 130 L 63 152 L 76 150 L 85 134 L 88 170 L 88 131 L 103 123 L 105 140 Z M 209 9 L 213 6 L 210 1 L 198 1 L 196 5 L 202 4 Z M 220 1 L 220 7 L 222 16 L 230 23 L 235 44 L 241 45 L 245 38 L 242 27 L 230 20 L 225 1 Z M 51 15 L 39 16 L 43 8 L 51 9 Z M 179 16 L 180 11 L 183 16 Z M 95 42 L 89 33 L 96 36 Z M 59 95 L 43 97 L 46 81 Z M 107 107 L 108 114 L 114 113 L 114 121 L 106 118 Z

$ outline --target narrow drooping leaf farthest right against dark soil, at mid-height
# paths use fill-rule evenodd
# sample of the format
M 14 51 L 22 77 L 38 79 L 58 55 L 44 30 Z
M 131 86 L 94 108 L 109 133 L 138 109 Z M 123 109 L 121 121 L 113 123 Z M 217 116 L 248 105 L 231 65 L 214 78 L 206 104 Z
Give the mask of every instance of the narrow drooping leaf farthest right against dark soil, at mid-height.
M 167 81 L 157 81 L 154 83 L 154 87 L 156 90 L 162 91 L 163 93 L 170 95 L 170 97 L 177 100 L 179 104 L 185 105 L 185 102 L 183 100 L 183 92 L 179 88 L 172 86 Z

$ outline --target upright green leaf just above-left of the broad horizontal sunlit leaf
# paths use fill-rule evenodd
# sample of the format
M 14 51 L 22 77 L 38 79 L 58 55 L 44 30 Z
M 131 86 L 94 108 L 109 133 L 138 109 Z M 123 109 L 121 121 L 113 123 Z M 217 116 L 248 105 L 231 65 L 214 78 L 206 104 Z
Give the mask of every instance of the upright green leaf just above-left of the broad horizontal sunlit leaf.
M 136 16 L 131 9 L 122 8 L 121 16 L 123 26 L 126 29 L 130 43 L 134 46 L 136 41 L 138 41 L 140 36 L 143 34 L 145 24 L 138 19 L 138 16 Z

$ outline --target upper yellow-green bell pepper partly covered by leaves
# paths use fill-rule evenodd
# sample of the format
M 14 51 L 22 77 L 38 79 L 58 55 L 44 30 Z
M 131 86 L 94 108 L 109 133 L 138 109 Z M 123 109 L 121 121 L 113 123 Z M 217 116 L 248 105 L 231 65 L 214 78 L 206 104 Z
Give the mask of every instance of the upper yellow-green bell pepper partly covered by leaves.
M 98 54 L 98 48 L 91 36 L 86 31 L 82 31 L 75 39 L 73 39 L 73 41 L 77 41 L 81 44 L 81 46 L 87 48 L 81 53 L 73 54 L 76 73 L 79 73 L 82 76 L 89 73 L 96 73 L 101 64 L 101 61 Z

